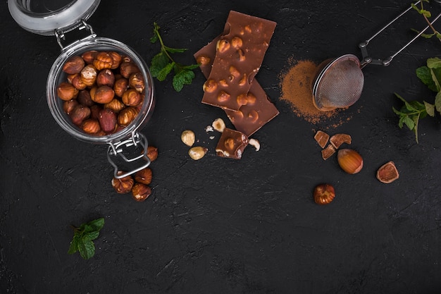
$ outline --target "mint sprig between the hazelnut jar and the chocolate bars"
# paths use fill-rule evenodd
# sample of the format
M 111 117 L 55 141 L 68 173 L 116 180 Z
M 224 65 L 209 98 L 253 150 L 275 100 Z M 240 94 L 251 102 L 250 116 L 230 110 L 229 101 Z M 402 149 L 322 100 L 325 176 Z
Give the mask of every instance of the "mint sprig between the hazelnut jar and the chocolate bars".
M 195 68 L 199 67 L 199 64 L 191 64 L 185 66 L 176 62 L 172 58 L 172 54 L 182 53 L 187 51 L 185 48 L 172 48 L 164 44 L 161 34 L 159 33 L 159 25 L 154 23 L 154 35 L 150 38 L 152 44 L 159 41 L 161 44 L 161 51 L 151 59 L 150 73 L 154 78 L 157 78 L 160 82 L 166 80 L 169 73 L 174 71 L 173 75 L 173 89 L 176 92 L 180 92 L 184 85 L 190 85 L 194 79 Z

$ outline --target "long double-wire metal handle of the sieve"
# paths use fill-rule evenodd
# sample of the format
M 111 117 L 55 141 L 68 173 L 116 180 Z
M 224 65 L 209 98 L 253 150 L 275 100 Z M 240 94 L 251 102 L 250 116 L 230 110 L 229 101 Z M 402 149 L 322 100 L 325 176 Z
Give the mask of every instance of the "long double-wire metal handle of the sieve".
M 435 0 L 437 3 L 441 3 L 441 1 L 437 1 Z M 418 5 L 420 1 L 417 1 L 416 3 L 414 3 L 414 5 Z M 410 6 L 409 8 L 407 8 L 405 11 L 403 11 L 402 13 L 399 14 L 399 16 L 397 16 L 396 18 L 394 18 L 393 20 L 390 21 L 390 23 L 387 23 L 387 25 L 385 25 L 383 28 L 381 28 L 381 30 L 379 30 L 378 32 L 376 32 L 371 38 L 367 39 L 364 42 L 361 42 L 359 44 L 359 48 L 361 49 L 361 56 L 363 56 L 363 60 L 361 61 L 361 68 L 364 68 L 364 66 L 368 65 L 368 64 L 375 64 L 375 65 L 380 65 L 380 66 L 388 66 L 390 64 L 390 62 L 392 61 L 392 59 L 394 59 L 395 56 L 397 56 L 398 54 L 400 54 L 404 49 L 406 49 L 406 47 L 408 47 L 412 42 L 414 42 L 416 39 L 418 39 L 418 37 L 420 37 L 421 35 L 423 35 L 423 32 L 426 32 L 426 30 L 430 27 L 430 25 L 433 25 L 433 23 L 435 23 L 435 21 L 441 17 L 441 13 L 438 14 L 435 19 L 430 23 L 430 25 L 427 25 L 423 30 L 421 30 L 421 32 L 418 33 L 418 35 L 416 35 L 413 39 L 411 39 L 409 42 L 407 42 L 407 44 L 405 44 L 401 49 L 399 49 L 397 52 L 395 52 L 395 54 L 392 54 L 392 56 L 389 56 L 387 59 L 372 59 L 371 56 L 369 56 L 368 54 L 368 44 L 369 42 L 371 42 L 371 40 L 375 37 L 377 37 L 378 35 L 380 35 L 381 32 L 383 32 L 383 30 L 385 30 L 387 27 L 389 27 L 390 25 L 392 25 L 392 23 L 395 23 L 395 21 L 398 18 L 401 18 L 402 16 L 404 16 L 404 14 L 406 14 L 409 10 L 412 9 L 412 6 Z

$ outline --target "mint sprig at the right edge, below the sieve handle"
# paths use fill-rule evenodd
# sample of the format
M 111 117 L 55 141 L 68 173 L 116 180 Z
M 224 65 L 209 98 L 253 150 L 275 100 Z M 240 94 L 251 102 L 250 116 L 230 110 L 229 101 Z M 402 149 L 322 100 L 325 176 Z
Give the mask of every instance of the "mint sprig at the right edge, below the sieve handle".
M 421 66 L 416 69 L 416 76 L 430 90 L 436 92 L 434 104 L 426 101 L 421 103 L 416 100 L 407 102 L 406 99 L 395 93 L 395 96 L 404 102 L 404 105 L 399 110 L 392 107 L 395 114 L 399 116 L 399 128 L 406 125 L 409 130 L 413 130 L 417 143 L 419 120 L 426 116 L 435 116 L 435 110 L 441 114 L 441 59 L 437 57 L 430 58 L 426 63 L 427 66 Z

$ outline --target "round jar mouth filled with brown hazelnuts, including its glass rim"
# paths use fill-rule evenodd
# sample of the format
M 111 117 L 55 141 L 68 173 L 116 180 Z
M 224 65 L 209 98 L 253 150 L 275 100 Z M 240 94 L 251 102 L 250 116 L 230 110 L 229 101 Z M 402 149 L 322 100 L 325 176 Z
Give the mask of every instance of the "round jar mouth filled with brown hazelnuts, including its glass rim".
M 58 125 L 86 142 L 120 142 L 141 129 L 154 110 L 147 65 L 130 47 L 108 38 L 84 39 L 63 49 L 49 72 L 46 93 Z M 75 113 L 73 118 L 66 111 L 73 104 L 82 105 L 84 116 Z M 125 109 L 131 109 L 130 116 Z M 94 123 L 92 132 L 87 120 L 98 122 L 99 129 Z

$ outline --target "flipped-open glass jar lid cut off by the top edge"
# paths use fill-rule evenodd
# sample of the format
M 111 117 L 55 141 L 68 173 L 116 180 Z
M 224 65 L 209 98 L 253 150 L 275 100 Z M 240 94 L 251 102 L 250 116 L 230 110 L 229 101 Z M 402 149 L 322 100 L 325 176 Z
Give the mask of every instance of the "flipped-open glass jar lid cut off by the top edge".
M 100 0 L 8 1 L 9 13 L 20 27 L 39 35 L 69 32 L 82 25 L 97 10 Z M 54 4 L 56 3 L 56 4 Z M 49 6 L 53 4 L 55 6 Z

